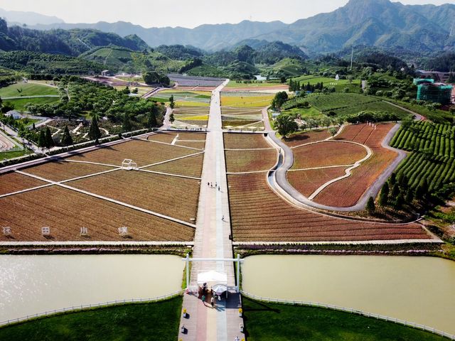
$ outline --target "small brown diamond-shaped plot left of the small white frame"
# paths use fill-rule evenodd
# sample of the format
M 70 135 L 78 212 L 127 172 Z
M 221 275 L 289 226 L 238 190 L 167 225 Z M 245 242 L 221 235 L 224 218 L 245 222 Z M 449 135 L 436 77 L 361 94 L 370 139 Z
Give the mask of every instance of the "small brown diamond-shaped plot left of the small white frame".
M 109 166 L 94 165 L 92 163 L 53 161 L 43 163 L 42 165 L 39 166 L 26 168 L 23 169 L 22 171 L 33 175 L 38 175 L 41 178 L 45 178 L 48 180 L 62 181 L 72 178 L 78 178 L 84 175 L 109 171 L 109 169 L 113 168 Z

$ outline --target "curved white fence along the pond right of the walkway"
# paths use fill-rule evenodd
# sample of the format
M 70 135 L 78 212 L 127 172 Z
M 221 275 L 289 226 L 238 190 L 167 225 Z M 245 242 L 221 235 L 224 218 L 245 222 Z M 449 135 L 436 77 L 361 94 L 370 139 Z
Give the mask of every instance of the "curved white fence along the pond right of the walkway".
M 427 325 L 419 325 L 418 323 L 413 323 L 413 322 L 408 322 L 405 320 L 400 320 L 399 318 L 390 318 L 389 316 L 385 315 L 379 315 L 379 314 L 373 314 L 373 313 L 367 313 L 362 310 L 357 310 L 353 308 L 345 308 L 345 307 L 340 307 L 338 305 L 331 305 L 331 304 L 323 304 L 319 302 L 308 302 L 308 301 L 289 301 L 289 300 L 280 300 L 277 298 L 266 298 L 266 297 L 261 297 L 261 296 L 256 296 L 253 295 L 252 293 L 246 293 L 245 291 L 240 291 L 243 296 L 255 299 L 257 301 L 263 301 L 267 303 L 283 303 L 283 304 L 293 304 L 293 305 L 308 305 L 311 307 L 317 307 L 317 308 L 327 308 L 327 309 L 332 309 L 332 310 L 339 310 L 339 311 L 344 311 L 346 313 L 353 313 L 353 314 L 358 314 L 358 315 L 363 315 L 368 318 L 376 318 L 378 320 L 385 320 L 387 322 L 393 322 L 393 323 L 398 323 L 400 325 L 405 325 L 407 327 L 412 327 L 412 328 L 417 328 L 419 330 L 424 330 L 426 332 L 432 332 L 433 334 L 442 336 L 442 337 L 447 337 L 450 340 L 455 340 L 455 335 L 449 334 L 448 332 L 443 332 L 442 330 L 437 330 L 435 328 L 428 327 Z

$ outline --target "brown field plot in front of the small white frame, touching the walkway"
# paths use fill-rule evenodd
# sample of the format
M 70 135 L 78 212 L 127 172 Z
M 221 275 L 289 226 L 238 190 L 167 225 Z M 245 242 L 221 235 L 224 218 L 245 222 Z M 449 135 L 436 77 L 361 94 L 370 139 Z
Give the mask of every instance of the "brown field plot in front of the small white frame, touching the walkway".
M 196 218 L 198 180 L 141 171 L 117 171 L 70 181 L 68 185 L 168 215 L 185 222 Z

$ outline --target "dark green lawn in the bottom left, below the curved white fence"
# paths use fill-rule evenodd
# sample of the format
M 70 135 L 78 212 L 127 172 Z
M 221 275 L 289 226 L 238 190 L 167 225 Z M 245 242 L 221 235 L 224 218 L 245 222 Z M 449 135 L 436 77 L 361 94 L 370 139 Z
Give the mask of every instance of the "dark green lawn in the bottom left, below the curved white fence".
M 68 313 L 0 328 L 0 340 L 176 340 L 182 298 Z

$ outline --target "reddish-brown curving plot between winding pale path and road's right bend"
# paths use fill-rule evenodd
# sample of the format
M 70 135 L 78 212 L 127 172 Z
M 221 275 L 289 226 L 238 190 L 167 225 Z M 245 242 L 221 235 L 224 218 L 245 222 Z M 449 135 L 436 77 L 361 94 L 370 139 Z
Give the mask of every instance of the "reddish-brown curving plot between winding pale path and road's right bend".
M 373 156 L 354 168 L 352 175 L 324 188 L 314 198 L 315 202 L 333 207 L 349 207 L 355 205 L 363 193 L 370 188 L 379 175 L 397 157 L 395 151 L 382 148 L 381 142 L 395 124 L 380 124 L 376 129 L 367 124 L 346 126 L 338 139 L 358 141 L 369 146 Z

